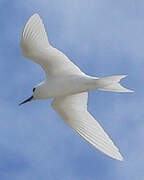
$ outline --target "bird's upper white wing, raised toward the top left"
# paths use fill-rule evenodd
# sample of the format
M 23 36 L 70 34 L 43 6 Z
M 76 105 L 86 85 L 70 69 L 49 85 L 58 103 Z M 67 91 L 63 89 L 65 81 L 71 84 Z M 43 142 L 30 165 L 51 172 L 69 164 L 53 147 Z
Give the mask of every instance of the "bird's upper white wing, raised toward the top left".
M 48 36 L 38 14 L 34 14 L 26 23 L 21 48 L 24 57 L 40 64 L 47 76 L 83 74 L 61 51 L 49 44 Z

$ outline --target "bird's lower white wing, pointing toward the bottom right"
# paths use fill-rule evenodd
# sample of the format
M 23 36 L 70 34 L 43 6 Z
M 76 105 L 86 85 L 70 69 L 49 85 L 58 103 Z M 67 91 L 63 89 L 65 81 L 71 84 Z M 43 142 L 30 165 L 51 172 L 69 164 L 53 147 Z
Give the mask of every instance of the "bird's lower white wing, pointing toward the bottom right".
M 94 147 L 117 160 L 123 157 L 100 124 L 87 111 L 88 93 L 55 98 L 54 110 L 72 129 Z

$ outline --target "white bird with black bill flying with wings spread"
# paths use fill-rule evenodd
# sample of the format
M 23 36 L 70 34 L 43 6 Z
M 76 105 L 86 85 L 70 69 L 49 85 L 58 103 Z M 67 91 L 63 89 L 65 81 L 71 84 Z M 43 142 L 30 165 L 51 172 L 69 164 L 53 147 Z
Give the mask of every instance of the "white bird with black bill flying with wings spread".
M 120 150 L 89 113 L 87 106 L 88 92 L 92 90 L 133 92 L 120 84 L 126 75 L 99 78 L 82 72 L 63 52 L 50 44 L 38 13 L 25 24 L 20 46 L 23 56 L 39 64 L 46 78 L 33 88 L 32 96 L 19 105 L 53 98 L 51 106 L 68 126 L 107 156 L 122 161 Z

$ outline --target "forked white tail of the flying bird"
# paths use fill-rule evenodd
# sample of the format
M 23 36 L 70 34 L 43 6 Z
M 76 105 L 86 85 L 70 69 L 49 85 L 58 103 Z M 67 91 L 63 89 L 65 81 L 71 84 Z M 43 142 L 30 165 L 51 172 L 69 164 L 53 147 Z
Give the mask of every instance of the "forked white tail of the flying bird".
M 120 84 L 120 80 L 125 78 L 127 75 L 108 76 L 97 79 L 99 84 L 99 90 L 113 91 L 113 92 L 133 92 L 130 89 L 123 87 Z

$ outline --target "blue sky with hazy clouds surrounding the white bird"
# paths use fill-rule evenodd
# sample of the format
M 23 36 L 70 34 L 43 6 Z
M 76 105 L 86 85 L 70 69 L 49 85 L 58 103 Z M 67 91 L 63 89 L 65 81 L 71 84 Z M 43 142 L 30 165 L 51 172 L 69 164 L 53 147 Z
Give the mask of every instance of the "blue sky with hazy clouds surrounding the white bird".
M 51 100 L 18 104 L 44 79 L 20 49 L 39 13 L 53 46 L 92 76 L 128 74 L 135 93 L 94 91 L 89 111 L 120 148 L 119 162 L 72 131 Z M 143 180 L 144 1 L 0 0 L 0 180 Z

